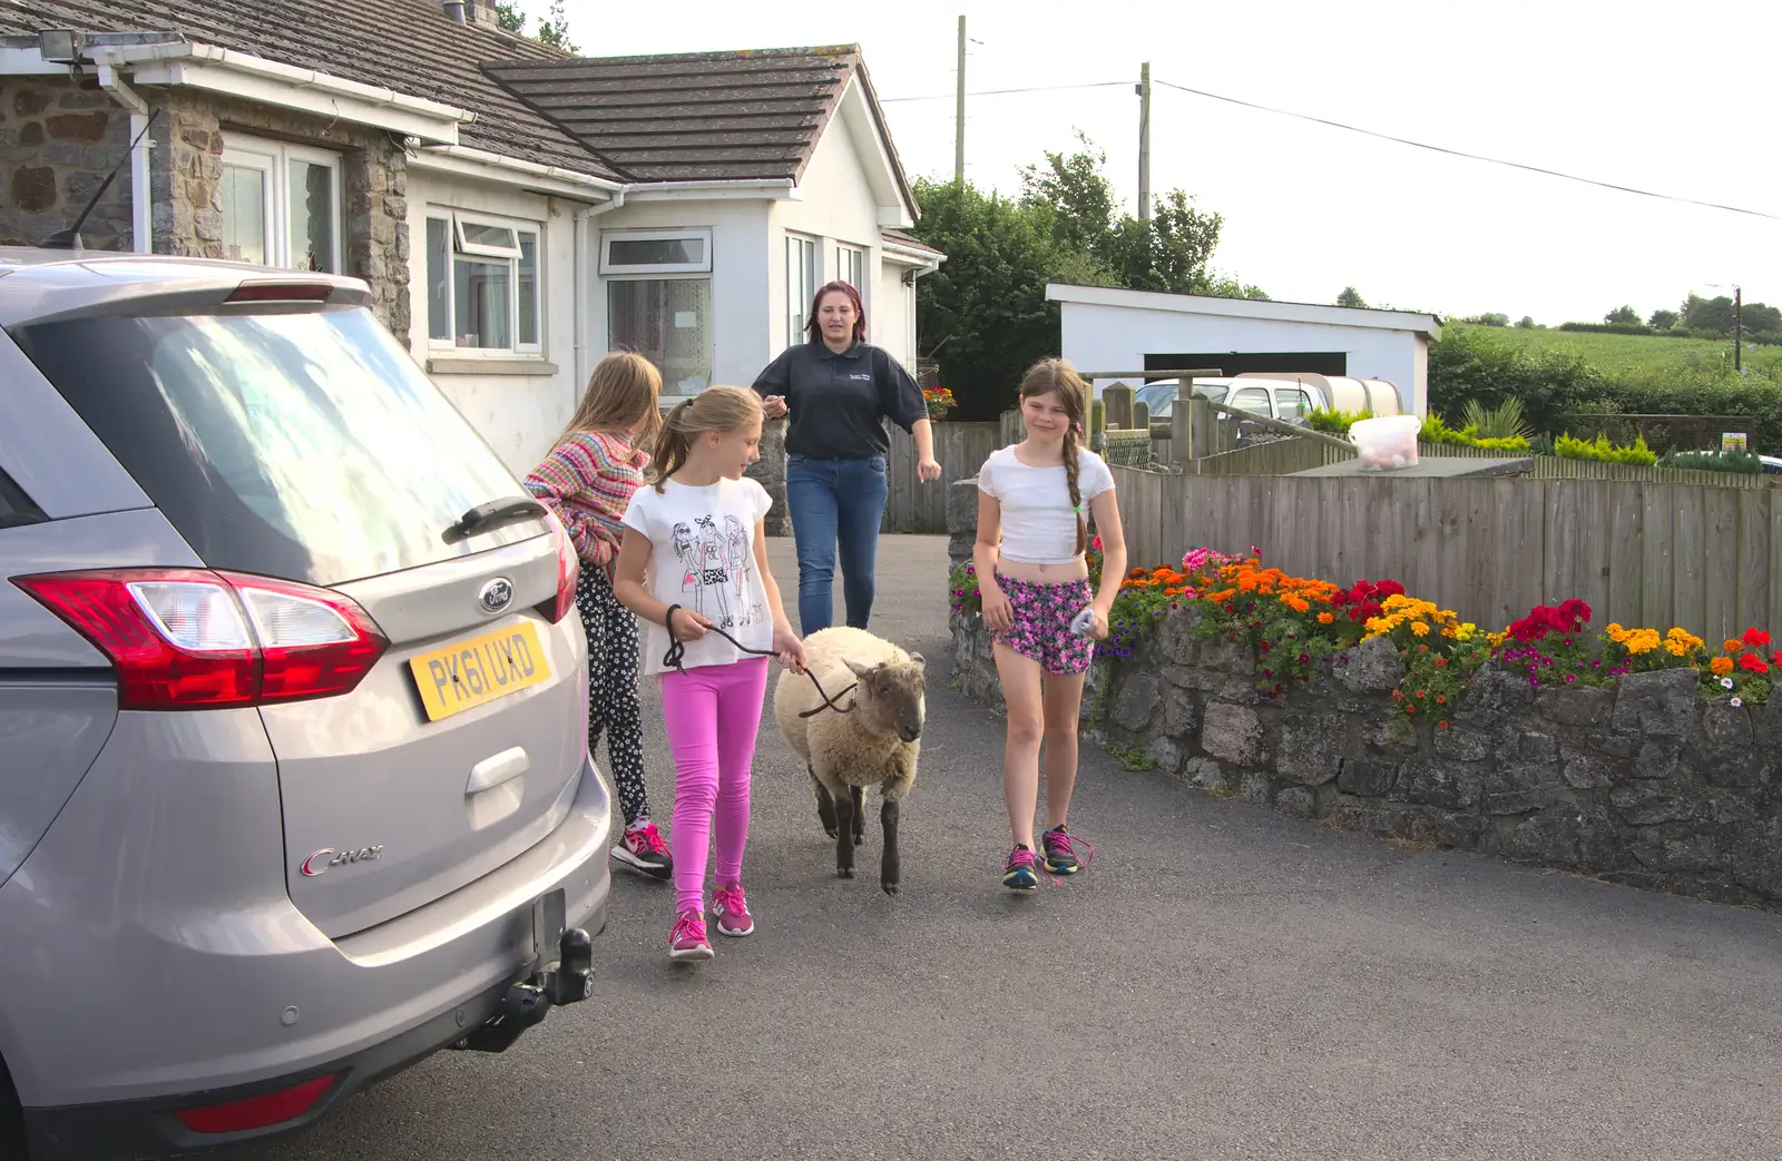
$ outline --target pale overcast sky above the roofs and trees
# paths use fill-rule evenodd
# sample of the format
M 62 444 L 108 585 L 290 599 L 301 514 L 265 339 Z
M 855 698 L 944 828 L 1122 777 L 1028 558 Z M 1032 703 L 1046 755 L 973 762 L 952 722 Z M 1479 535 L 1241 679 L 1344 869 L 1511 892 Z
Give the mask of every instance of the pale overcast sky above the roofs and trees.
M 542 12 L 545 0 L 524 0 Z M 1538 322 L 1641 317 L 1693 288 L 1782 301 L 1782 221 L 1385 142 L 1164 87 L 1174 82 L 1427 144 L 1782 217 L 1777 0 L 567 0 L 584 55 L 859 43 L 911 176 L 953 169 L 957 20 L 968 91 L 1137 82 L 1151 61 L 1151 187 L 1224 215 L 1219 271 L 1276 299 Z M 893 100 L 941 96 L 943 100 Z M 1137 194 L 1139 98 L 1116 85 L 968 100 L 966 175 L 1082 128 Z M 1716 288 L 1720 283 L 1723 288 Z

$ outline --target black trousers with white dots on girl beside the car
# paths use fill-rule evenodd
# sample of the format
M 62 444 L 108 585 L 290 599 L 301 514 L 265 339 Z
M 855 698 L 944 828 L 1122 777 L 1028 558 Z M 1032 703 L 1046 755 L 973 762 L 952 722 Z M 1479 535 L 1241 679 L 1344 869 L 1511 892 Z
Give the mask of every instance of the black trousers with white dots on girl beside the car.
M 608 773 L 618 789 L 625 826 L 649 816 L 643 791 L 643 710 L 638 707 L 638 621 L 618 604 L 599 564 L 581 563 L 576 607 L 588 634 L 588 753 L 606 734 Z

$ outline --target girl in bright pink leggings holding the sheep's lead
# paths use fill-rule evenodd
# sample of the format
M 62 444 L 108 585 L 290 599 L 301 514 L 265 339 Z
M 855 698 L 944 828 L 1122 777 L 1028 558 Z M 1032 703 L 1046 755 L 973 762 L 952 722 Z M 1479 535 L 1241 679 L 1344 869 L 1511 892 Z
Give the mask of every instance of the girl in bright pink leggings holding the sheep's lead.
M 661 684 L 674 751 L 672 960 L 711 958 L 706 849 L 713 830 L 718 931 L 756 930 L 743 896 L 748 767 L 768 687 L 768 659 L 756 654 L 777 654 L 782 666 L 804 671 L 804 645 L 768 572 L 761 520 L 772 499 L 743 479 L 761 458 L 761 418 L 759 397 L 734 386 L 711 386 L 675 404 L 656 443 L 656 475 L 625 509 L 613 577 L 618 600 L 650 625 L 643 662 Z

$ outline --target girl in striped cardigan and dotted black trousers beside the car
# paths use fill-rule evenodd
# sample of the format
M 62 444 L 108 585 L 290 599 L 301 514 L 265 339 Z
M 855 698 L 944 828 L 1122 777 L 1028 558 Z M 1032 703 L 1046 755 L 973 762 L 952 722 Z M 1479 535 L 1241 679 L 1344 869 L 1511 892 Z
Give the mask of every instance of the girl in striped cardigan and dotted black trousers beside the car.
M 661 429 L 663 378 L 642 354 L 601 360 L 556 447 L 526 477 L 526 490 L 556 513 L 581 554 L 576 605 L 588 634 L 588 753 L 606 732 L 608 766 L 625 812 L 613 858 L 658 880 L 674 876 L 668 844 L 650 821 L 643 789 L 643 721 L 638 710 L 638 629 L 613 597 L 613 561 L 631 493 L 643 484 Z

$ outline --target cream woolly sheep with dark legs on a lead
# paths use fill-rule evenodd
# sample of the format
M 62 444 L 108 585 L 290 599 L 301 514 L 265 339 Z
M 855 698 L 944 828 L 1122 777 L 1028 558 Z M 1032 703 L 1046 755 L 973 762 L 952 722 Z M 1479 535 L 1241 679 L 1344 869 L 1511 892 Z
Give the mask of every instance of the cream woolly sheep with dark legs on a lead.
M 818 817 L 836 840 L 836 874 L 845 880 L 854 878 L 854 848 L 864 842 L 866 787 L 879 787 L 884 800 L 879 821 L 886 835 L 879 885 L 895 896 L 902 873 L 900 803 L 916 782 L 927 716 L 921 654 L 903 652 L 864 629 L 836 625 L 805 637 L 804 659 L 823 689 L 836 696 L 836 709 L 802 718 L 823 705 L 823 698 L 809 677 L 782 671 L 773 687 L 781 734 L 811 775 Z M 841 694 L 850 684 L 855 689 Z

